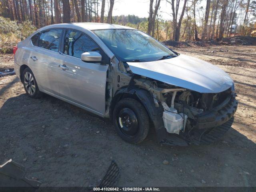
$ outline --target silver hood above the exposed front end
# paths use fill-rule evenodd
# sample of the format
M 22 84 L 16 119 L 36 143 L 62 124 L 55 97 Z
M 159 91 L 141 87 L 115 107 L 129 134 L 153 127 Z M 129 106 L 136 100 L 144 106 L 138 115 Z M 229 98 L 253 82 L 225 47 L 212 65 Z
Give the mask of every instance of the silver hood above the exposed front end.
M 222 92 L 234 84 L 220 68 L 183 54 L 158 61 L 127 63 L 134 74 L 200 93 Z

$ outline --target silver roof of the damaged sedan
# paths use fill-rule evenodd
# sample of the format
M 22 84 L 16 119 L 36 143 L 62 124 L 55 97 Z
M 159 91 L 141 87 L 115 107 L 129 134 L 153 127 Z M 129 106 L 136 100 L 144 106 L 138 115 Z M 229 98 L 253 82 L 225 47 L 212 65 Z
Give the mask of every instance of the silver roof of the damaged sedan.
M 88 30 L 102 30 L 102 29 L 134 29 L 131 27 L 126 27 L 122 25 L 114 25 L 114 24 L 107 24 L 107 23 L 89 23 L 89 22 L 83 22 L 83 23 L 62 23 L 62 24 L 54 24 L 47 26 L 48 28 L 51 27 L 63 27 L 63 28 L 69 28 L 71 26 L 78 26 L 82 27 L 84 29 Z

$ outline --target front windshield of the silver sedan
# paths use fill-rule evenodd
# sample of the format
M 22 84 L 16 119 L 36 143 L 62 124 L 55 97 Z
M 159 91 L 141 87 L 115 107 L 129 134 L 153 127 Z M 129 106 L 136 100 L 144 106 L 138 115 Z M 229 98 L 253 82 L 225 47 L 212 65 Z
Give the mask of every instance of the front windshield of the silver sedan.
M 115 56 L 125 61 L 155 61 L 177 56 L 147 34 L 132 29 L 94 30 Z

